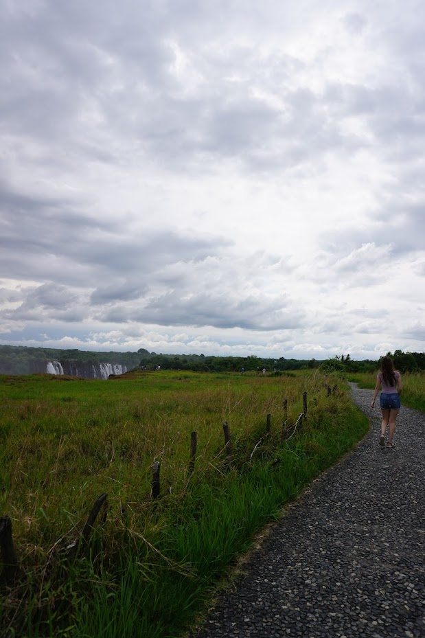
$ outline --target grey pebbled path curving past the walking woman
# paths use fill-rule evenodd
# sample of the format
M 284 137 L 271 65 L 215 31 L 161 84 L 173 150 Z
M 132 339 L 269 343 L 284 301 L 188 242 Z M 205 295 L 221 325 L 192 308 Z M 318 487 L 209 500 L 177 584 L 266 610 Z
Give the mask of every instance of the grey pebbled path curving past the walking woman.
M 371 430 L 274 525 L 197 638 L 425 638 L 425 416 L 402 407 L 393 449 Z

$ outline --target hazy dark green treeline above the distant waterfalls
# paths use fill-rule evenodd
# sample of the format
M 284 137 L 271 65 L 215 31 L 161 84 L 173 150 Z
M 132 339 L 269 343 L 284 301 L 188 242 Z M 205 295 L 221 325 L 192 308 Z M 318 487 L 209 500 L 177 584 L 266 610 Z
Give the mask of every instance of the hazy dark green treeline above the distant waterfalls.
M 0 345 L 0 374 L 30 374 L 39 362 L 120 363 L 128 369 L 137 367 L 137 352 L 90 352 L 89 350 L 60 350 L 60 348 L 27 348 L 24 345 Z

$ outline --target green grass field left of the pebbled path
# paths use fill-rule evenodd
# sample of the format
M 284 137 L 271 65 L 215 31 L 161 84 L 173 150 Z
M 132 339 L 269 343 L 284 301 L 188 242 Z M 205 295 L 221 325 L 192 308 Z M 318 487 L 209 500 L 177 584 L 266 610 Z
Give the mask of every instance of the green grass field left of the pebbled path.
M 295 429 L 303 392 L 308 417 Z M 181 635 L 255 534 L 368 428 L 345 385 L 317 371 L 3 376 L 0 398 L 0 514 L 12 519 L 19 558 L 0 604 L 10 637 Z M 84 547 L 104 492 L 108 508 Z

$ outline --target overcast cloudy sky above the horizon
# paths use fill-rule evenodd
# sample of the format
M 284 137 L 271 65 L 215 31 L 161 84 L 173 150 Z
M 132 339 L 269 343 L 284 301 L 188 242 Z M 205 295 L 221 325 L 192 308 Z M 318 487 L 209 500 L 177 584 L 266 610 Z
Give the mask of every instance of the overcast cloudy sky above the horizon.
M 422 0 L 0 0 L 0 343 L 425 349 Z

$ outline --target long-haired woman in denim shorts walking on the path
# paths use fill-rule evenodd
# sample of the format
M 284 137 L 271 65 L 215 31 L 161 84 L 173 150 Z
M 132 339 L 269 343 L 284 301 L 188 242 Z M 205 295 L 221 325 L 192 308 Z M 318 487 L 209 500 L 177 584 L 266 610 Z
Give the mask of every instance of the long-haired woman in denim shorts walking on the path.
M 402 376 L 394 369 L 393 360 L 389 356 L 382 357 L 381 369 L 376 375 L 376 386 L 371 407 L 374 407 L 376 397 L 382 386 L 380 407 L 382 412 L 381 433 L 379 444 L 385 445 L 385 433 L 389 425 L 387 448 L 393 448 L 393 436 L 395 433 L 395 419 L 400 412 L 400 394 L 402 394 Z

